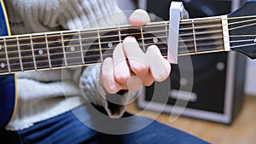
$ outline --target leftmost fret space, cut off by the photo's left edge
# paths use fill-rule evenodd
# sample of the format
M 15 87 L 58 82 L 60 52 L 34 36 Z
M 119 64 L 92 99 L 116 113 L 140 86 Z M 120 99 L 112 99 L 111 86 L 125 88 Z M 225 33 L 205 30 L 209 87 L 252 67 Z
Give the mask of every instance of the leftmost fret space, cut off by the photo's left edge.
M 5 38 L 0 39 L 0 72 L 9 73 L 9 58 L 7 55 Z

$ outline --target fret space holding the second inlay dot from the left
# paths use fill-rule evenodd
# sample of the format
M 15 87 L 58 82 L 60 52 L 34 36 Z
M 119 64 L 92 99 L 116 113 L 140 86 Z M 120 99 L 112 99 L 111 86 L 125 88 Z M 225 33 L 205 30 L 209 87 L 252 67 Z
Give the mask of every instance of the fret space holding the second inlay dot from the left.
M 33 55 L 35 57 L 37 69 L 48 69 L 50 68 L 49 55 L 47 55 L 48 44 L 47 37 L 44 35 L 32 35 L 33 42 Z

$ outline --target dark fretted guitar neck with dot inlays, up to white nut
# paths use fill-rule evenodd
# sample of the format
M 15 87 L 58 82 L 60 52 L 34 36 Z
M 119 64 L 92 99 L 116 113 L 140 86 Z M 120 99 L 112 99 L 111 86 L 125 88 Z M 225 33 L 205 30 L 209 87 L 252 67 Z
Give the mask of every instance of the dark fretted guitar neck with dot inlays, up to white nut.
M 181 20 L 178 55 L 229 50 L 225 16 Z M 43 32 L 0 37 L 0 74 L 88 66 L 112 56 L 127 36 L 137 38 L 143 51 L 155 44 L 167 55 L 169 21 L 147 26 Z

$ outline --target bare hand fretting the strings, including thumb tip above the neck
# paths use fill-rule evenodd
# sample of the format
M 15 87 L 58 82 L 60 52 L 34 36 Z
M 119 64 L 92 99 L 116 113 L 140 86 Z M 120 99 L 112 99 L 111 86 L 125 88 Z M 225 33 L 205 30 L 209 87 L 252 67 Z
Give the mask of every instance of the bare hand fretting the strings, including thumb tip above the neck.
M 131 14 L 129 22 L 132 26 L 143 26 L 150 19 L 147 12 L 137 9 Z M 170 63 L 163 58 L 156 45 L 149 46 L 143 53 L 135 37 L 125 37 L 124 42 L 113 50 L 113 58 L 103 61 L 100 82 L 108 93 L 114 94 L 120 89 L 135 91 L 142 85 L 164 81 L 170 72 Z

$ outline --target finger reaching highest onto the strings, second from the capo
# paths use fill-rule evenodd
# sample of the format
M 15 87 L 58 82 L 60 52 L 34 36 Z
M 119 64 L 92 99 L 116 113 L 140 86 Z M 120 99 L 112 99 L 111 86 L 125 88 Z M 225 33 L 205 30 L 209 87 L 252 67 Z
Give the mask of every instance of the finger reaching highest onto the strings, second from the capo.
M 154 78 L 149 73 L 149 64 L 146 55 L 139 47 L 135 37 L 125 37 L 123 49 L 128 59 L 131 71 L 142 80 L 143 85 L 150 85 Z

